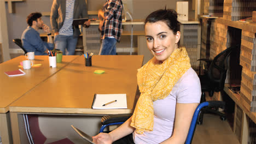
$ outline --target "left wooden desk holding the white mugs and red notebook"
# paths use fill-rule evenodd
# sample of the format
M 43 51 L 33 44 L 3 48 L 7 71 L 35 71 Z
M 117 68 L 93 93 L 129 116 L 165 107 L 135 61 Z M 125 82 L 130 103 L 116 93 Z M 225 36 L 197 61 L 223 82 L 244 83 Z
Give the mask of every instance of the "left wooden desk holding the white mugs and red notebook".
M 21 61 L 26 60 L 25 56 L 19 56 L 0 64 L 0 131 L 3 143 L 11 143 L 9 105 L 22 95 L 31 91 L 39 83 L 54 75 L 61 68 L 78 56 L 63 56 L 63 62 L 58 63 L 56 68 L 49 68 L 48 56 L 35 56 L 34 64 L 42 64 L 40 67 L 24 70 L 26 75 L 8 77 L 4 71 L 17 70 Z M 22 69 L 22 68 L 21 68 Z M 23 69 L 22 69 L 23 70 Z

